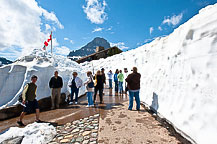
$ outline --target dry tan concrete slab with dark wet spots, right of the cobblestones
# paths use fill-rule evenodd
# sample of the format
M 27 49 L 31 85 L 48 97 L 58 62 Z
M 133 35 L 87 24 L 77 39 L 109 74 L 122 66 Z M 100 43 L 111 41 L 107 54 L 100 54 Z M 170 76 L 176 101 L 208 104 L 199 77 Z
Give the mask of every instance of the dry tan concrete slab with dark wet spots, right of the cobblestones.
M 128 111 L 128 102 L 99 120 L 98 142 L 104 144 L 177 144 L 175 137 L 145 110 Z

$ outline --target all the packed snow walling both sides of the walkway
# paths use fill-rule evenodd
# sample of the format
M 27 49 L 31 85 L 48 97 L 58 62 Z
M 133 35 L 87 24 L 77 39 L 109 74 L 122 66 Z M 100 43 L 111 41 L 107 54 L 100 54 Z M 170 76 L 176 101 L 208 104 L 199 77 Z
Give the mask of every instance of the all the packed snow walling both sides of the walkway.
M 39 76 L 37 97 L 50 95 L 48 81 L 54 70 L 64 79 L 72 71 L 84 80 L 87 70 L 138 67 L 141 100 L 152 106 L 196 143 L 217 142 L 217 4 L 202 9 L 167 37 L 157 38 L 135 50 L 76 64 L 64 57 L 43 54 L 24 57 L 0 68 L 0 106 L 16 103 L 32 74 Z M 84 93 L 84 87 L 80 91 Z

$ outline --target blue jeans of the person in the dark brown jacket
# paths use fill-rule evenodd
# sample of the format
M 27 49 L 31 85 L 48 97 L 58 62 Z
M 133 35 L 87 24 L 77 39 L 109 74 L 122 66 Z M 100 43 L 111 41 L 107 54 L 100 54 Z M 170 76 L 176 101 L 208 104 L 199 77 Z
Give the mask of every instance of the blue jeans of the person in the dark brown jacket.
M 129 107 L 128 107 L 128 109 L 132 110 L 132 108 L 133 108 L 133 97 L 135 97 L 135 100 L 136 100 L 136 109 L 140 110 L 139 91 L 132 92 L 131 90 L 129 90 Z

